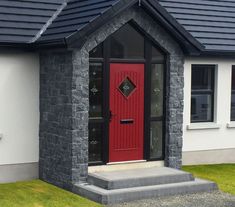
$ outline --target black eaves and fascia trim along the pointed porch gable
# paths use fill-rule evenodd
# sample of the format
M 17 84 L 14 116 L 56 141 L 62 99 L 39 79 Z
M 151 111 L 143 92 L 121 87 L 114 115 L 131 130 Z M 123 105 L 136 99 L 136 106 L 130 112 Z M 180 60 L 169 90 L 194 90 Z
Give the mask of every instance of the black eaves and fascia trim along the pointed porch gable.
M 168 30 L 180 43 L 185 54 L 199 55 L 204 50 L 204 46 L 191 36 L 156 0 L 120 0 L 109 10 L 70 36 L 55 41 L 36 42 L 34 45 L 39 48 L 55 47 L 58 44 L 61 47 L 80 48 L 91 33 L 132 6 L 142 8 Z

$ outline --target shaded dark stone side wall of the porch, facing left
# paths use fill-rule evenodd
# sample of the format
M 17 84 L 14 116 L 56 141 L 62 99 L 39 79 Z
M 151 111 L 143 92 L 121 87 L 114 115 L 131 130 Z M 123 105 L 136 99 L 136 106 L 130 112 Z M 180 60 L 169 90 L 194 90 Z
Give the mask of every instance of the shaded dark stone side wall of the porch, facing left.
M 72 185 L 72 53 L 40 55 L 39 177 L 65 189 Z

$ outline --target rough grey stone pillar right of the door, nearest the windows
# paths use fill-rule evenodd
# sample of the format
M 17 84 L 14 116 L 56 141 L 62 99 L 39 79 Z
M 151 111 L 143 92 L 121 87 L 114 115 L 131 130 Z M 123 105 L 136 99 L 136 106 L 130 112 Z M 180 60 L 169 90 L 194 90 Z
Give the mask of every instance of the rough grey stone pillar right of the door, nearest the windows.
M 180 169 L 183 147 L 184 58 L 169 56 L 166 106 L 166 166 Z

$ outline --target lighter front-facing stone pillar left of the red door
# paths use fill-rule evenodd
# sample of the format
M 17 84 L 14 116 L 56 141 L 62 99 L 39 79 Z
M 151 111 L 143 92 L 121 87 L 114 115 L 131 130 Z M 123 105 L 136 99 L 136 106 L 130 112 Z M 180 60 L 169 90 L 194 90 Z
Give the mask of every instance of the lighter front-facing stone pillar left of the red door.
M 88 174 L 89 53 L 73 51 L 72 182 L 83 182 Z

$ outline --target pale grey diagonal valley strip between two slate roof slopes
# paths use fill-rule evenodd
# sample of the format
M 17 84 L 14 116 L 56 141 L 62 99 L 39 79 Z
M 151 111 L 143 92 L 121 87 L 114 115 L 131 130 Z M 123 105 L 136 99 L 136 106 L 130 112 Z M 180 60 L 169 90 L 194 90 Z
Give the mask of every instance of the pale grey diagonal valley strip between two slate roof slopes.
M 29 42 L 36 42 L 42 34 L 47 30 L 47 28 L 52 24 L 52 22 L 58 17 L 62 10 L 67 6 L 67 3 L 70 0 L 64 0 L 63 4 L 56 10 L 56 12 L 51 16 L 51 18 L 46 22 L 46 24 L 40 29 L 40 31 L 35 35 L 35 37 Z

